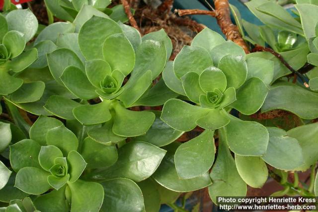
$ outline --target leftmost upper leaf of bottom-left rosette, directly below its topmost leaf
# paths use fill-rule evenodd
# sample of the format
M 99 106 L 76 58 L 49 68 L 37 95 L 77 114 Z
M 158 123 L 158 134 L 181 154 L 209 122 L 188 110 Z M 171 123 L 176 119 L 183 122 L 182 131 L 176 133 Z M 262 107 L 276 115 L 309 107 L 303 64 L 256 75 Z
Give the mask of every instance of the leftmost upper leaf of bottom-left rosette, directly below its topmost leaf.
M 24 139 L 10 146 L 10 164 L 17 172 L 23 167 L 32 166 L 41 168 L 38 156 L 41 146 L 37 142 Z

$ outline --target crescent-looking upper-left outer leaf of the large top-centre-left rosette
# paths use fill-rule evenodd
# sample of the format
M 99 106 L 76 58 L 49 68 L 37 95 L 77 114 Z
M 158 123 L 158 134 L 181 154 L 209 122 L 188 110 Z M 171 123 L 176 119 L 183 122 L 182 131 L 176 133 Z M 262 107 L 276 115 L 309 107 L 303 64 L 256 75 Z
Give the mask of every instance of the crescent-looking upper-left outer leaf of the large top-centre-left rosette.
M 67 67 L 73 66 L 79 68 L 80 70 L 84 70 L 84 66 L 79 57 L 69 49 L 57 49 L 54 52 L 48 54 L 47 59 L 53 77 L 61 84 L 63 83 L 60 77 Z

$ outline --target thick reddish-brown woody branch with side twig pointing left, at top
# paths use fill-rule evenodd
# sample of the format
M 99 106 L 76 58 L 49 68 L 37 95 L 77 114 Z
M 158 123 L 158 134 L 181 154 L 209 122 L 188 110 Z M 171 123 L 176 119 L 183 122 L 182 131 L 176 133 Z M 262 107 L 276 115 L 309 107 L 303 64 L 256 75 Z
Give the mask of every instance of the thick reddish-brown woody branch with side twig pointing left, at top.
M 232 23 L 230 4 L 228 0 L 214 0 L 215 11 L 201 10 L 201 9 L 179 9 L 177 10 L 180 16 L 183 15 L 210 15 L 216 17 L 217 22 L 228 40 L 232 40 L 243 48 L 246 54 L 249 53 L 249 49 L 239 33 L 239 28 Z

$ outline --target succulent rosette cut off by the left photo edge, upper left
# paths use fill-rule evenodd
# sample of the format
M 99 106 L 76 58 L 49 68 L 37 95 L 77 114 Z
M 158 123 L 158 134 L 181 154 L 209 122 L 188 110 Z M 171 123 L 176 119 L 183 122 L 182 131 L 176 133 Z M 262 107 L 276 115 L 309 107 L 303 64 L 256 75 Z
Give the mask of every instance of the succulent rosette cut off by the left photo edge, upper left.
M 38 21 L 29 9 L 16 9 L 5 16 L 0 14 L 0 22 L 0 95 L 19 103 L 37 101 L 42 96 L 44 83 L 24 83 L 18 74 L 38 57 L 35 48 L 26 46 L 37 32 Z M 25 94 L 25 90 L 30 92 Z

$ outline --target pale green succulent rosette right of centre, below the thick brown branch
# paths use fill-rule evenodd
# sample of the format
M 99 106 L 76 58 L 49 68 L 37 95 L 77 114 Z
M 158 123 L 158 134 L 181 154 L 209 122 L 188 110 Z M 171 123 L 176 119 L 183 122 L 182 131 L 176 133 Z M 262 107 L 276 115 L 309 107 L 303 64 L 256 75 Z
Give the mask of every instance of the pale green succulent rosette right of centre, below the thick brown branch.
M 225 128 L 232 151 L 263 155 L 268 143 L 267 130 L 256 122 L 241 121 L 228 112 L 232 108 L 246 115 L 257 112 L 267 95 L 272 73 L 271 61 L 245 60 L 239 46 L 204 29 L 163 71 L 165 83 L 193 103 L 170 99 L 163 106 L 161 119 L 179 131 L 190 131 L 197 125 L 207 130 Z M 247 129 L 254 134 L 242 139 Z M 249 145 L 255 140 L 256 148 Z

